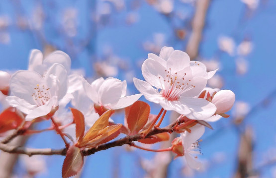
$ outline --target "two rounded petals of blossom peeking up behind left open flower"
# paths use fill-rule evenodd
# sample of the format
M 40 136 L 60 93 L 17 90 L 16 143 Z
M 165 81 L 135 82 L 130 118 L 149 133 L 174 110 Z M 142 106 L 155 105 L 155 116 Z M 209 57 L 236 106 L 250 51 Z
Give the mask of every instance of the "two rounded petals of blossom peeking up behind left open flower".
M 62 51 L 54 51 L 43 59 L 43 54 L 39 50 L 32 50 L 29 55 L 29 67 L 28 70 L 35 71 L 41 76 L 44 76 L 47 70 L 54 64 L 59 63 L 64 66 L 67 73 L 70 72 L 71 59 Z

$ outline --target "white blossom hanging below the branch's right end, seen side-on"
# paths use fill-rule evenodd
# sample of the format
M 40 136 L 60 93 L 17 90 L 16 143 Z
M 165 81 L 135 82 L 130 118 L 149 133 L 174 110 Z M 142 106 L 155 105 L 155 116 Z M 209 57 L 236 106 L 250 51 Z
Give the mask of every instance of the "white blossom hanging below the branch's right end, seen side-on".
M 197 161 L 196 155 L 201 154 L 197 140 L 203 135 L 205 127 L 196 124 L 190 127 L 190 130 L 190 133 L 185 131 L 184 133 L 181 133 L 180 136 L 184 147 L 184 157 L 190 168 L 199 170 L 202 167 L 202 163 Z

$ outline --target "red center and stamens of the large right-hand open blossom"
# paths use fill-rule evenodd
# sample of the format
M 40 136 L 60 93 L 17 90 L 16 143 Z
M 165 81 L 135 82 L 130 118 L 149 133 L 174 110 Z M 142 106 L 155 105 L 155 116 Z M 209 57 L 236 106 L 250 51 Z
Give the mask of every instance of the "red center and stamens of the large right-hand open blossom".
M 186 73 L 172 73 L 171 68 L 170 71 L 165 70 L 165 77 L 164 77 L 164 86 L 161 82 L 162 91 L 161 94 L 164 98 L 169 101 L 176 101 L 179 99 L 179 96 L 193 88 L 194 85 L 191 84 L 191 80 L 186 79 Z

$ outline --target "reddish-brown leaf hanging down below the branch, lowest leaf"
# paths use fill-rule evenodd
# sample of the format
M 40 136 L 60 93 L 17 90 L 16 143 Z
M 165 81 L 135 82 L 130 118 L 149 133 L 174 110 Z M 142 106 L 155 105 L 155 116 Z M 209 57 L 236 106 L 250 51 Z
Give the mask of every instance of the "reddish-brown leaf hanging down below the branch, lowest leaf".
M 84 166 L 84 155 L 80 148 L 72 145 L 69 147 L 62 165 L 62 178 L 77 175 Z

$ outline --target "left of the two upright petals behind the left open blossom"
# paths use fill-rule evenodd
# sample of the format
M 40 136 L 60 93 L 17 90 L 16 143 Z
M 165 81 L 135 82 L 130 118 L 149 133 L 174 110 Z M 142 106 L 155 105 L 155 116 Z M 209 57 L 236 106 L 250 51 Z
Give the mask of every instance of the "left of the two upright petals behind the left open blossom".
M 31 50 L 29 54 L 28 70 L 35 71 L 42 75 L 45 71 L 43 65 L 43 54 L 39 50 Z

